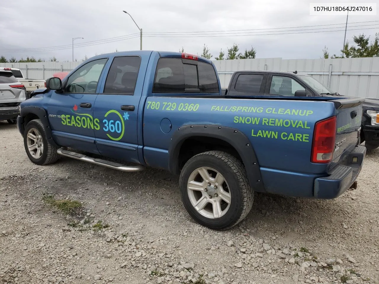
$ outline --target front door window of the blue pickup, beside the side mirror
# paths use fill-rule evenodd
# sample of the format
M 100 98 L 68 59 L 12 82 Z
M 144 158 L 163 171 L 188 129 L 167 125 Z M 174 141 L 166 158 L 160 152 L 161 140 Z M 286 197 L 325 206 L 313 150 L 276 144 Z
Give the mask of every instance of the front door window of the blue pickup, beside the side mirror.
M 66 92 L 94 94 L 108 58 L 88 62 L 77 69 L 67 80 Z

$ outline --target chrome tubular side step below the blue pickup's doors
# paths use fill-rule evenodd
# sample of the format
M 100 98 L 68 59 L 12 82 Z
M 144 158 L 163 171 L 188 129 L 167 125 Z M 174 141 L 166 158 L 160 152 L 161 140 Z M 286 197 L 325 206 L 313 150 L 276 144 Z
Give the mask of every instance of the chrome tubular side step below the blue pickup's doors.
M 59 148 L 56 152 L 62 156 L 70 157 L 73 159 L 77 159 L 77 160 L 88 162 L 95 165 L 102 165 L 104 167 L 111 168 L 114 170 L 119 170 L 121 172 L 139 172 L 145 169 L 143 165 L 135 165 L 135 166 L 122 165 L 119 163 L 110 162 L 103 159 L 91 158 L 80 153 L 64 150 L 64 148 Z

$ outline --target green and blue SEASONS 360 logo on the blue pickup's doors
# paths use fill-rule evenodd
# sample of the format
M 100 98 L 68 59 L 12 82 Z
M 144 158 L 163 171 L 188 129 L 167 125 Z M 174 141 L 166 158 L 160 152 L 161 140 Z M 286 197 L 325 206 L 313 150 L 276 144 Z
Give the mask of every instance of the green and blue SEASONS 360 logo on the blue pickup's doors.
M 102 125 L 100 126 L 100 119 L 94 119 L 91 114 L 78 113 L 77 111 L 78 106 L 74 105 L 74 107 L 71 109 L 71 112 L 73 113 L 72 115 L 62 114 L 62 124 L 94 130 L 100 130 L 100 127 L 102 126 L 102 130 L 106 132 L 106 136 L 114 141 L 121 140 L 121 138 L 124 136 L 124 120 L 129 119 L 129 114 L 127 112 L 124 112 L 124 115 L 121 116 L 118 111 L 111 109 L 104 115 Z

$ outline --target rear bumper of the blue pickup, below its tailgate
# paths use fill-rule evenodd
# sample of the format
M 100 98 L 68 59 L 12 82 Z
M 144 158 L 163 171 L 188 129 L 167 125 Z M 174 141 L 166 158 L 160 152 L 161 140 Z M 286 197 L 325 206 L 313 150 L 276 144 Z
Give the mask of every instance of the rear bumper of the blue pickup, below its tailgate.
M 356 146 L 346 157 L 344 164 L 338 164 L 325 178 L 316 178 L 314 197 L 318 199 L 333 199 L 340 196 L 351 187 L 362 169 L 366 156 L 366 147 Z M 353 161 L 356 159 L 356 161 Z

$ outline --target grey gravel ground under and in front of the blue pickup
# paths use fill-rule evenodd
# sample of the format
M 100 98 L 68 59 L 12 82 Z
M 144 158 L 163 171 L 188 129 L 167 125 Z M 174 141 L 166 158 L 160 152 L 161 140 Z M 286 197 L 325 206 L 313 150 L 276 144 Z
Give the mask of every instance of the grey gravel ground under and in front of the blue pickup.
M 356 190 L 257 193 L 247 218 L 219 232 L 189 217 L 167 172 L 34 165 L 3 122 L 0 145 L 0 283 L 379 283 L 379 150 Z M 82 207 L 51 205 L 66 199 Z

